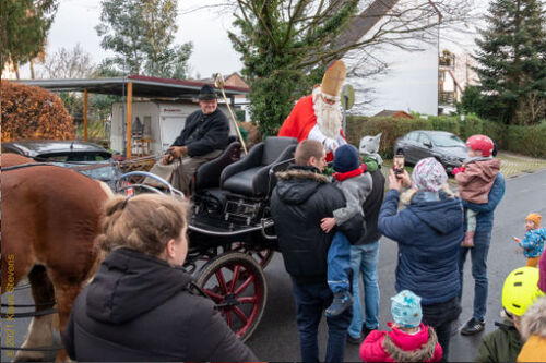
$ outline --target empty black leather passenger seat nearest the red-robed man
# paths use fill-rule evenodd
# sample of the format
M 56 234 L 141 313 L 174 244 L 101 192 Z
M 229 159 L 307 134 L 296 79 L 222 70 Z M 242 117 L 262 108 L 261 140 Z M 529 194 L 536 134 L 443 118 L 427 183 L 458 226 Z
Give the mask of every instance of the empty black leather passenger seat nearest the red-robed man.
M 270 169 L 293 158 L 297 144 L 294 137 L 266 137 L 252 147 L 245 158 L 224 169 L 221 187 L 248 196 L 266 195 L 272 187 Z

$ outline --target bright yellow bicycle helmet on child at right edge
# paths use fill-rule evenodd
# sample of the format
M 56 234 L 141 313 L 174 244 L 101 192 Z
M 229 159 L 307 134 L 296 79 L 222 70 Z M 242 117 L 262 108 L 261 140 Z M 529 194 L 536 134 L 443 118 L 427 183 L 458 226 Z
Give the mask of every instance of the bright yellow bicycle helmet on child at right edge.
M 538 268 L 520 267 L 511 271 L 502 286 L 502 306 L 517 316 L 522 316 L 536 298 L 544 293 L 537 287 Z

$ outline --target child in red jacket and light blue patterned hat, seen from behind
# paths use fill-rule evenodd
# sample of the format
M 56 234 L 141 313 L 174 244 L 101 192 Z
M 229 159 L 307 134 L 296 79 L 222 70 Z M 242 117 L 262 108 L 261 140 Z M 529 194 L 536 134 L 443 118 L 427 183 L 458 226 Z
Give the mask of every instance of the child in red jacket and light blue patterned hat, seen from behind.
M 404 290 L 391 298 L 391 331 L 371 331 L 360 346 L 363 362 L 438 362 L 442 348 L 435 329 L 424 325 L 420 298 Z

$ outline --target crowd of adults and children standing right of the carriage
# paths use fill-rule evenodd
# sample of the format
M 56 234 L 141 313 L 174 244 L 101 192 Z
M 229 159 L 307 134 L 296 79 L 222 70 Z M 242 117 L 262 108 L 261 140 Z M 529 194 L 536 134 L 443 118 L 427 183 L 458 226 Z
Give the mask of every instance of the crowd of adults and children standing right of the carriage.
M 381 165 L 376 149 L 364 155 L 360 166 L 355 157 L 356 148 L 340 146 L 333 159 L 334 182 L 330 183 L 322 174 L 325 152 L 321 143 L 307 140 L 298 145 L 295 165 L 278 173 L 271 209 L 285 267 L 293 280 L 302 361 L 319 361 L 317 330 L 323 314 L 329 327 L 327 362 L 343 361 L 345 340 L 360 344 L 360 358 L 365 362 L 447 361 L 452 323 L 461 314 L 462 273 L 468 254 L 475 280 L 474 312 L 461 334 L 475 335 L 484 330 L 487 254 L 494 211 L 502 199 L 505 180 L 499 161 L 494 158 L 495 143 L 489 137 L 475 135 L 466 145 L 468 162 L 455 171 L 460 176 L 458 193 L 450 190 L 443 166 L 435 158 L 425 158 L 415 165 L 412 176 L 407 171 L 396 174 L 390 170 L 384 198 L 384 178 L 377 178 L 377 173 L 373 178 Z M 365 174 L 370 176 L 365 178 Z M 340 210 L 348 209 L 356 201 L 360 208 L 353 208 L 349 217 L 363 217 L 365 222 L 357 220 L 351 228 L 343 228 L 349 223 L 339 218 Z M 505 323 L 483 339 L 475 358 L 477 362 L 546 359 L 546 346 L 541 346 L 546 342 L 543 306 L 546 298 L 538 299 L 544 294 L 546 257 L 541 262 L 532 259 L 543 254 L 545 229 L 539 225 L 541 216 L 530 214 L 524 239 L 514 238 L 527 257 L 527 266 L 507 277 L 502 290 Z M 356 235 L 367 238 L 346 238 L 354 234 L 351 230 L 354 228 L 360 228 Z M 388 324 L 390 331 L 377 330 L 378 247 L 373 244 L 379 244 L 381 234 L 399 246 L 395 270 L 399 294 L 392 298 L 394 322 Z M 366 298 L 365 322 L 358 289 L 360 269 Z M 346 283 L 342 292 L 336 286 L 346 276 L 353 279 L 353 298 Z M 346 308 L 351 300 L 353 312 Z M 525 318 L 530 306 L 535 306 L 530 311 L 533 319 Z M 345 339 L 341 338 L 343 335 Z M 525 341 L 529 348 L 523 349 Z

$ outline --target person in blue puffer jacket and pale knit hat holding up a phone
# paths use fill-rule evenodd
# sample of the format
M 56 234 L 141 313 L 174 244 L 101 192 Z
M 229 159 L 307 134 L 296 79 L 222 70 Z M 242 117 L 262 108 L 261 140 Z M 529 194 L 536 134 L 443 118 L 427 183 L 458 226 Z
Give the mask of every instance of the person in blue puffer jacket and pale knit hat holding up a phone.
M 423 322 L 435 328 L 448 359 L 451 322 L 461 314 L 459 250 L 463 239 L 463 207 L 447 185 L 448 176 L 435 158 L 396 179 L 391 170 L 389 192 L 379 213 L 379 230 L 399 245 L 396 291 L 411 290 L 422 299 Z M 402 184 L 413 187 L 402 195 L 407 207 L 397 213 Z

